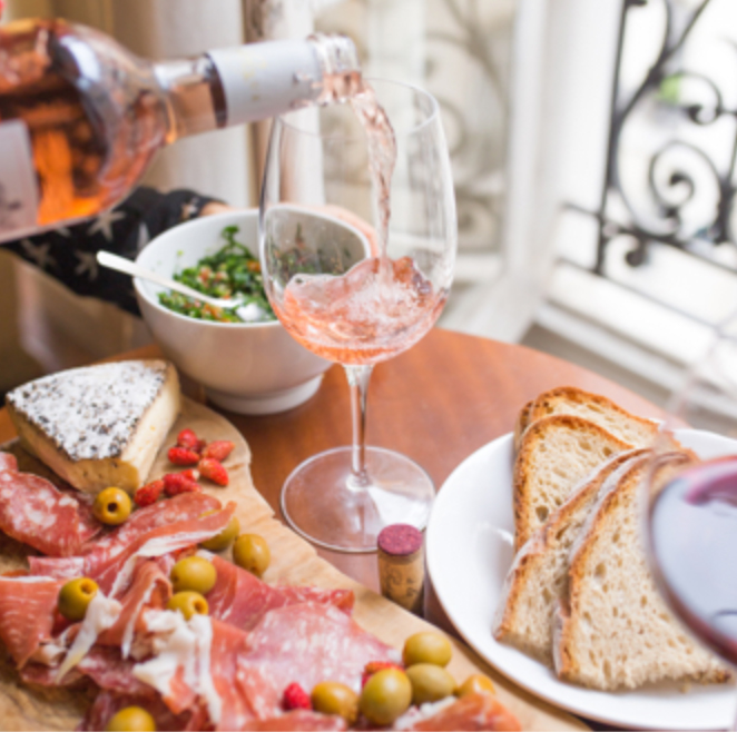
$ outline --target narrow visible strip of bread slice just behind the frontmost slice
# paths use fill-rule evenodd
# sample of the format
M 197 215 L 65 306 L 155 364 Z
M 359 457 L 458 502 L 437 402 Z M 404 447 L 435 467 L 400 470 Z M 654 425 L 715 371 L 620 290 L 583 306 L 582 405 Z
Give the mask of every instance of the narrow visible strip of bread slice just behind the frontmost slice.
M 518 552 L 504 581 L 494 637 L 552 665 L 552 622 L 568 578 L 568 555 L 599 494 L 618 471 L 647 453 L 619 453 L 573 489 L 566 503 Z M 615 483 L 616 484 L 616 483 Z

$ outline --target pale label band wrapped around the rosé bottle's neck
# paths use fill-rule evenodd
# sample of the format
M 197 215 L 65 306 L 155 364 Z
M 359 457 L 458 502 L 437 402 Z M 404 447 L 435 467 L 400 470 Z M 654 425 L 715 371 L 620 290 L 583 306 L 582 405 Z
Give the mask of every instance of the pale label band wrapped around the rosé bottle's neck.
M 276 117 L 320 96 L 323 72 L 309 41 L 268 41 L 208 52 L 223 82 L 227 123 Z

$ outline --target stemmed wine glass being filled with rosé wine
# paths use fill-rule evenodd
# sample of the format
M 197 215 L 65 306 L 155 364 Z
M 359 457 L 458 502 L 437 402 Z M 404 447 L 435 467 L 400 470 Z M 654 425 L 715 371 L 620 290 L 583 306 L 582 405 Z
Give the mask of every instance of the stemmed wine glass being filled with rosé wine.
M 368 552 L 389 524 L 426 525 L 433 483 L 365 445 L 366 392 L 374 365 L 438 319 L 456 238 L 448 145 L 425 91 L 372 81 L 350 103 L 274 121 L 259 210 L 266 294 L 294 338 L 344 366 L 351 389 L 353 445 L 307 459 L 282 492 L 284 516 L 315 544 Z

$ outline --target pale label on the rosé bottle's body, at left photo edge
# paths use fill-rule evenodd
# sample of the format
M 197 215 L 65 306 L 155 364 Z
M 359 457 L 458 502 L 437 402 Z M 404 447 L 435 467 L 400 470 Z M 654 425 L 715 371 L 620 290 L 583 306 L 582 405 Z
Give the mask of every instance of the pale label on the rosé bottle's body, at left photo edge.
M 38 186 L 26 123 L 0 122 L 0 241 L 38 228 Z

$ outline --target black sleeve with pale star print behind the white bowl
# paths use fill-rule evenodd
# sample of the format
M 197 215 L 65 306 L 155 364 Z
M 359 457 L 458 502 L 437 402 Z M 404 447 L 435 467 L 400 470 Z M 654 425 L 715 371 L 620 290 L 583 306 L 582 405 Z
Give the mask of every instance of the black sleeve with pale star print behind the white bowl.
M 150 239 L 196 218 L 213 200 L 191 190 L 160 194 L 141 187 L 116 208 L 83 224 L 0 246 L 40 267 L 78 295 L 99 297 L 139 315 L 131 278 L 100 267 L 95 258 L 97 253 L 106 249 L 135 259 Z

